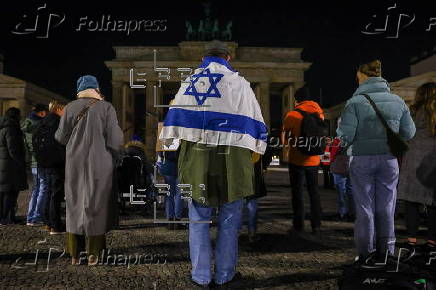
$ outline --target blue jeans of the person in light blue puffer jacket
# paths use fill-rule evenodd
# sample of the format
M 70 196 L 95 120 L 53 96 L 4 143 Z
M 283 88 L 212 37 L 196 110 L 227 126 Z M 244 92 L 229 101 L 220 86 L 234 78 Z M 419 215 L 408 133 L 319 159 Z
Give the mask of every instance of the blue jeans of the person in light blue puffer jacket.
M 398 175 L 398 161 L 391 154 L 351 157 L 354 241 L 359 255 L 394 253 Z

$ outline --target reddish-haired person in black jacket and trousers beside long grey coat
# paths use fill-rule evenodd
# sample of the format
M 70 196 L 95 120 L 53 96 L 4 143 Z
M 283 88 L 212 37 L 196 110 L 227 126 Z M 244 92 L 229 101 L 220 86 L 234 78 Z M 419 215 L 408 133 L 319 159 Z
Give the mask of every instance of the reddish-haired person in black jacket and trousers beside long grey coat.
M 59 127 L 61 116 L 64 114 L 65 105 L 53 101 L 49 105 L 50 113 L 33 134 L 32 145 L 38 164 L 38 174 L 47 184 L 48 217 L 47 230 L 50 235 L 65 232 L 65 226 L 61 220 L 60 208 L 64 199 L 64 175 L 65 175 L 65 146 L 58 143 L 55 132 Z

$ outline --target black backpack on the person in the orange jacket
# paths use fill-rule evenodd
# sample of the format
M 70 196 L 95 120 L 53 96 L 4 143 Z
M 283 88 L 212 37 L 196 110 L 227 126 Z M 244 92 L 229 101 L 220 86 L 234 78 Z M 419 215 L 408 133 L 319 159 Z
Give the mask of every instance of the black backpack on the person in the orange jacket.
M 309 114 L 303 110 L 295 109 L 303 115 L 301 133 L 297 140 L 297 149 L 308 156 L 324 154 L 328 136 L 327 123 L 320 118 L 318 113 Z

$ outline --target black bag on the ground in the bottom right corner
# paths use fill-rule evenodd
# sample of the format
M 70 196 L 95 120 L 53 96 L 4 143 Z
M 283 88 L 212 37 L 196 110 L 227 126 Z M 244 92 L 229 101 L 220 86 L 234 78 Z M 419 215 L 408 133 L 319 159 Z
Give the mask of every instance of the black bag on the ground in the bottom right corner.
M 348 268 L 339 279 L 340 290 L 436 290 L 428 273 L 386 272 Z

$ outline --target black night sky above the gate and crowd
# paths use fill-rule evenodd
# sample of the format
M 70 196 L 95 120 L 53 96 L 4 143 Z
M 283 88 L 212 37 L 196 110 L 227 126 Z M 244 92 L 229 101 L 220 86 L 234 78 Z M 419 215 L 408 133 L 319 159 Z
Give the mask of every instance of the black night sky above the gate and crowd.
M 114 58 L 114 45 L 177 45 L 185 37 L 185 20 L 203 17 L 202 1 L 116 1 L 90 4 L 91 1 L 12 1 L 0 12 L 0 50 L 5 57 L 5 73 L 72 98 L 75 80 L 94 74 L 103 93 L 110 97 L 110 71 L 104 60 Z M 312 62 L 305 80 L 314 95 L 322 88 L 323 105 L 347 99 L 356 87 L 355 63 L 362 51 L 374 51 L 383 61 L 388 81 L 409 75 L 412 56 L 436 46 L 436 25 L 426 32 L 436 5 L 397 2 L 395 15 L 416 15 L 415 21 L 400 30 L 398 39 L 384 35 L 364 35 L 361 30 L 374 14 L 383 19 L 395 1 L 213 1 L 213 15 L 233 20 L 233 38 L 240 46 L 303 47 L 303 59 Z M 14 35 L 11 30 L 31 15 L 41 3 L 49 13 L 65 14 L 66 20 L 50 31 L 48 39 L 35 35 Z M 109 3 L 109 2 L 106 2 Z M 147 5 L 144 5 L 144 4 Z M 244 5 L 242 5 L 244 4 Z M 165 32 L 75 31 L 79 18 L 166 19 Z M 403 20 L 405 23 L 407 19 Z M 396 22 L 396 21 L 394 21 Z M 436 21 L 435 21 L 436 22 Z M 403 25 L 403 24 L 402 24 Z M 380 25 L 379 25 L 380 26 Z M 390 34 L 395 34 L 390 24 Z

